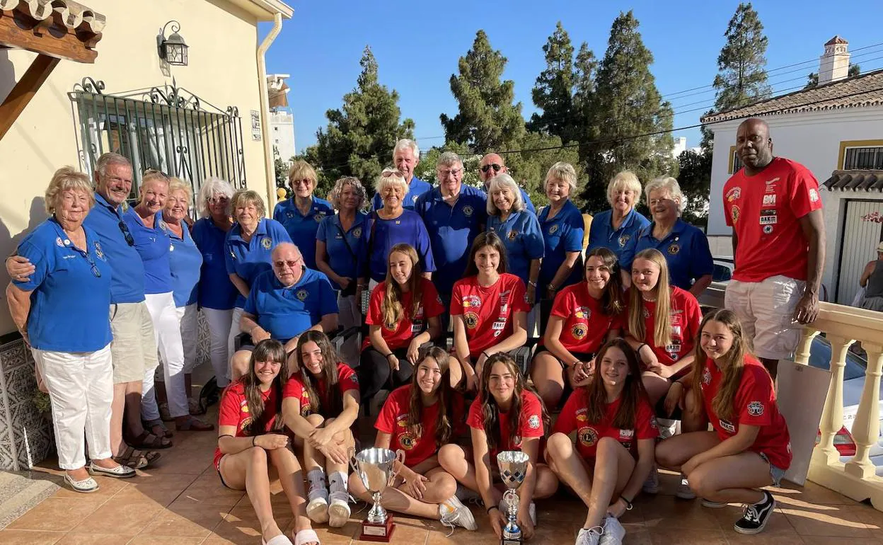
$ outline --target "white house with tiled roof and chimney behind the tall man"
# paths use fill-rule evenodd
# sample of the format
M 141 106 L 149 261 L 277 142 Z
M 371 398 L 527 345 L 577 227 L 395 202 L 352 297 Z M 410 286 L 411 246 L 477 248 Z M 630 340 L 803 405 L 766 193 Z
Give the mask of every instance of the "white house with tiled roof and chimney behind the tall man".
M 747 117 L 761 117 L 770 126 L 774 155 L 804 164 L 819 179 L 827 241 L 822 283 L 827 300 L 848 305 L 864 264 L 883 240 L 883 223 L 876 219 L 883 216 L 883 70 L 847 79 L 847 48 L 839 36 L 825 44 L 818 87 L 702 122 L 714 133 L 707 231 L 713 254 L 732 254 L 721 193 L 741 168 L 736 128 Z

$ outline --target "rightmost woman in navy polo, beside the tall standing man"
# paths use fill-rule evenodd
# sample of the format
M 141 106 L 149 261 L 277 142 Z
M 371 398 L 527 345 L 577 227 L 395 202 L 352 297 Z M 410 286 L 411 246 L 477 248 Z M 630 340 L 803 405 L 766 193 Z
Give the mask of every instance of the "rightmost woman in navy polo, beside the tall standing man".
M 712 283 L 714 269 L 706 233 L 681 219 L 684 199 L 675 178 L 656 178 L 644 191 L 653 223 L 630 242 L 623 253 L 623 270 L 631 270 L 631 261 L 642 250 L 659 250 L 668 262 L 669 283 L 698 299 Z

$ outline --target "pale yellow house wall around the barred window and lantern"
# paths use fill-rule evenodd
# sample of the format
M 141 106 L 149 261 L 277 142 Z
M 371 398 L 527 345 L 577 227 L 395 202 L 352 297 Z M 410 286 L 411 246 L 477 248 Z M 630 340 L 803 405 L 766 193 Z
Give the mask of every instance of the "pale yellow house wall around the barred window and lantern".
M 172 83 L 225 110 L 236 106 L 243 121 L 243 154 L 249 188 L 267 193 L 264 147 L 252 140 L 250 110 L 260 110 L 257 19 L 225 0 L 89 0 L 107 17 L 95 64 L 59 63 L 16 124 L 0 140 L 0 256 L 18 245 L 30 227 L 42 222 L 42 194 L 52 173 L 78 161 L 72 102 L 67 93 L 90 76 L 116 95 Z M 156 36 L 170 19 L 181 23 L 190 46 L 189 65 L 161 70 Z M 170 31 L 169 31 L 170 32 Z M 27 70 L 34 54 L 0 49 L 0 100 Z M 270 201 L 275 202 L 275 200 Z M 0 286 L 9 276 L 0 270 Z M 4 290 L 2 290 L 4 291 Z M 13 331 L 5 295 L 0 304 L 0 335 Z

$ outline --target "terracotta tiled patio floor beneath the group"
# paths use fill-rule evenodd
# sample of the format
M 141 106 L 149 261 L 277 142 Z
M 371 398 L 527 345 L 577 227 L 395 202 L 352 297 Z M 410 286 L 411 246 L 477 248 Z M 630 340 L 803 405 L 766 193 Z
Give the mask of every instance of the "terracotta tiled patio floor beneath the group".
M 214 415 L 213 415 L 214 416 Z M 163 451 L 155 468 L 140 471 L 128 481 L 98 477 L 101 490 L 82 495 L 62 489 L 0 531 L 0 543 L 116 545 L 259 544 L 260 526 L 244 492 L 221 486 L 211 466 L 215 432 L 176 433 L 175 446 Z M 40 469 L 47 479 L 61 481 L 53 461 Z M 698 501 L 673 496 L 675 475 L 661 475 L 659 496 L 639 496 L 635 508 L 623 517 L 625 543 L 883 543 L 883 513 L 869 505 L 808 483 L 804 488 L 774 489 L 779 503 L 766 531 L 743 536 L 732 525 L 741 515 L 730 506 L 713 510 Z M 291 532 L 291 512 L 278 481 L 273 488 L 277 523 Z M 396 515 L 393 543 L 416 545 L 472 545 L 494 543 L 493 531 L 480 508 L 475 508 L 478 532 L 462 528 L 447 536 L 437 521 Z M 359 511 L 361 510 L 361 511 Z M 534 543 L 572 543 L 585 519 L 585 508 L 575 498 L 559 494 L 538 505 L 539 525 Z M 351 522 L 343 528 L 317 528 L 325 545 L 358 543 L 358 520 L 366 515 L 354 506 Z

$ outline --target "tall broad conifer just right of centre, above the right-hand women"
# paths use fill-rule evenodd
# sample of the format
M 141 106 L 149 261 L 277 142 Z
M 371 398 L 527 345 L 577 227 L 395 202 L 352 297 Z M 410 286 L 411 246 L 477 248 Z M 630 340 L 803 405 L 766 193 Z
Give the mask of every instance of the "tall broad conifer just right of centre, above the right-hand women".
M 599 138 L 587 149 L 590 180 L 583 192 L 592 212 L 609 208 L 607 184 L 619 170 L 634 170 L 642 180 L 676 173 L 671 156 L 673 112 L 656 89 L 652 63 L 638 19 L 631 11 L 621 12 L 595 78 L 591 125 Z

